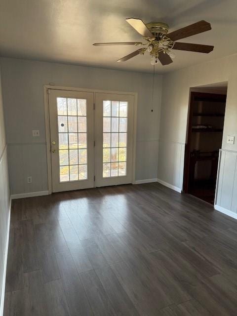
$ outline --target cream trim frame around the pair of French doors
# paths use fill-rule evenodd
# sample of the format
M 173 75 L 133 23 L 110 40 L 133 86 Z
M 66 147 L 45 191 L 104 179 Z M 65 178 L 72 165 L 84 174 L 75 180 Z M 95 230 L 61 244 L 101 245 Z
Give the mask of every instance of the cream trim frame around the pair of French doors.
M 45 136 L 46 136 L 46 156 L 47 156 L 47 175 L 48 175 L 48 194 L 52 194 L 52 165 L 51 165 L 51 145 L 50 145 L 50 125 L 49 125 L 49 102 L 48 102 L 48 90 L 67 90 L 67 91 L 84 91 L 94 93 L 112 93 L 112 94 L 126 94 L 134 96 L 134 113 L 133 113 L 133 146 L 132 146 L 132 184 L 135 184 L 135 168 L 136 168 L 136 136 L 137 136 L 137 92 L 124 92 L 124 91 L 110 91 L 110 90 L 98 90 L 98 89 L 83 89 L 75 87 L 66 87 L 60 85 L 43 86 L 44 96 L 44 119 L 45 119 Z M 95 154 L 95 153 L 94 153 Z M 96 157 L 96 156 L 95 156 Z

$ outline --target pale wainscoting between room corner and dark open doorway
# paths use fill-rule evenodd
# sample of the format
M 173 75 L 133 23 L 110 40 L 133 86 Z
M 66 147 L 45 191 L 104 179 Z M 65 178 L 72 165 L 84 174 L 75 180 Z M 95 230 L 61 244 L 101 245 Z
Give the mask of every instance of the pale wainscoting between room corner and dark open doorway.
M 184 143 L 159 140 L 158 179 L 182 190 Z

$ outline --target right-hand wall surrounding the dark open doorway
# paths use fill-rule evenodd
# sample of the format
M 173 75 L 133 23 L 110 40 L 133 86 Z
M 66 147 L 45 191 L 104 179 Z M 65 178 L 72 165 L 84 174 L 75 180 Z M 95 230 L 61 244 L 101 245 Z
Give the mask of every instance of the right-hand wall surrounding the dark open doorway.
M 237 213 L 237 55 L 163 76 L 158 179 L 182 189 L 190 88 L 224 81 L 228 90 L 216 200 Z M 236 137 L 234 145 L 227 144 L 228 135 Z

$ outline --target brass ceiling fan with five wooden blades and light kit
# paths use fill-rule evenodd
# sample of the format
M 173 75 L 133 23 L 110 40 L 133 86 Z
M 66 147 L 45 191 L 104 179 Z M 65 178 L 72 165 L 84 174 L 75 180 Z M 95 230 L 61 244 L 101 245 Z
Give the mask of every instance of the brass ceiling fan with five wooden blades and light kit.
M 146 47 L 139 48 L 120 59 L 117 62 L 127 61 L 128 59 L 139 54 L 144 55 L 147 51 L 151 55 L 151 64 L 155 65 L 158 60 L 162 65 L 172 63 L 172 58 L 175 57 L 173 49 L 194 51 L 198 53 L 209 53 L 213 50 L 214 46 L 201 45 L 177 42 L 196 35 L 202 32 L 211 30 L 210 23 L 206 21 L 199 21 L 197 23 L 186 26 L 177 31 L 168 33 L 169 26 L 166 23 L 151 22 L 145 24 L 141 19 L 126 19 L 126 21 L 147 41 L 145 44 L 142 42 L 115 42 L 115 43 L 94 43 L 94 46 L 102 45 L 144 45 Z

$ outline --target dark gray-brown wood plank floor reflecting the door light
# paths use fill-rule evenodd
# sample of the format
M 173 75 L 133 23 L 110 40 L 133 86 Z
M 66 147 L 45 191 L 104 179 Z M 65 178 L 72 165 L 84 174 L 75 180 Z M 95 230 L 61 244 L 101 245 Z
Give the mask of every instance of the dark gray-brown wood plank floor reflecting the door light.
M 14 200 L 4 316 L 236 316 L 237 221 L 157 183 Z

